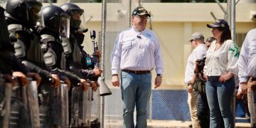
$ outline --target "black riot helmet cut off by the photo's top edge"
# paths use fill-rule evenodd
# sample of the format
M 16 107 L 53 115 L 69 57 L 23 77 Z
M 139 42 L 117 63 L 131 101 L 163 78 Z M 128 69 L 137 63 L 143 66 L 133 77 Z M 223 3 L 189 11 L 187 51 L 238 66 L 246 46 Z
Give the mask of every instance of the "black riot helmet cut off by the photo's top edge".
M 36 24 L 42 4 L 36 0 L 8 0 L 6 2 L 6 17 L 21 23 Z

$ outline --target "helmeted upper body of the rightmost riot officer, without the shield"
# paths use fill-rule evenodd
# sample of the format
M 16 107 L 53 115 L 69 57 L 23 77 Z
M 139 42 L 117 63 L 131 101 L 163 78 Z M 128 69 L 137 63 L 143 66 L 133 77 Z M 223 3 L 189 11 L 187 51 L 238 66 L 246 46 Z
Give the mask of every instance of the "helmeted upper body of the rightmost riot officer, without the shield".
M 83 50 L 83 46 L 81 46 L 85 37 L 83 33 L 87 32 L 87 28 L 81 27 L 80 18 L 83 17 L 84 10 L 72 3 L 63 4 L 60 8 L 65 10 L 70 16 L 70 53 L 65 53 L 69 62 L 67 68 L 70 70 L 73 70 L 74 67 L 81 69 L 80 73 L 86 79 L 92 80 L 94 77 L 99 77 L 102 70 L 94 68 L 92 58 Z M 100 57 L 99 51 L 97 51 L 97 55 Z

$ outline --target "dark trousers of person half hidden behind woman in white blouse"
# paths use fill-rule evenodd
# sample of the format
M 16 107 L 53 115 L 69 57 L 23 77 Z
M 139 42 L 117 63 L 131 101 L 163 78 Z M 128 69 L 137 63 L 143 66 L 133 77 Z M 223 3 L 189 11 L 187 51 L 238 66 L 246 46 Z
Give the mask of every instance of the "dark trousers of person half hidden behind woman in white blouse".
M 208 128 L 210 125 L 210 110 L 206 94 L 199 94 L 197 97 L 198 119 L 201 128 Z

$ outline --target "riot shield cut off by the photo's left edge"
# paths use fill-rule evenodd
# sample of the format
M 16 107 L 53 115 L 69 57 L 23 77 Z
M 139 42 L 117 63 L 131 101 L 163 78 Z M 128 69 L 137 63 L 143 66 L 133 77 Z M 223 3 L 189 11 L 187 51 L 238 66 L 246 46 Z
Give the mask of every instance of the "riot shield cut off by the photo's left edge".
M 11 83 L 0 78 L 0 127 L 9 128 Z

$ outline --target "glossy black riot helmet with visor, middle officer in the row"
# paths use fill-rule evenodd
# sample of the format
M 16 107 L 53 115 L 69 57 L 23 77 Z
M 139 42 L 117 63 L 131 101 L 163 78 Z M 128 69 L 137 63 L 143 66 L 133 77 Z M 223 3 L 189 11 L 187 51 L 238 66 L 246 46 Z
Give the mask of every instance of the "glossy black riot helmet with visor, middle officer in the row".
M 70 16 L 58 6 L 46 6 L 42 9 L 42 26 L 53 33 L 69 37 Z

